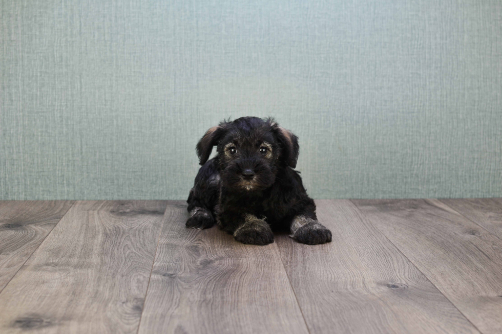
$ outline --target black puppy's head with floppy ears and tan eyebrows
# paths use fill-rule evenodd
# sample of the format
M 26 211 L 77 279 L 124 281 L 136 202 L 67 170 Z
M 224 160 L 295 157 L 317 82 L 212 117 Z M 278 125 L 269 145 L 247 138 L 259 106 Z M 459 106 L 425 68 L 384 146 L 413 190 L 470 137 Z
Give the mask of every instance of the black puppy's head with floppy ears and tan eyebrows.
M 270 187 L 279 168 L 296 167 L 298 137 L 272 118 L 242 117 L 207 130 L 197 144 L 200 164 L 217 146 L 223 184 L 237 191 Z

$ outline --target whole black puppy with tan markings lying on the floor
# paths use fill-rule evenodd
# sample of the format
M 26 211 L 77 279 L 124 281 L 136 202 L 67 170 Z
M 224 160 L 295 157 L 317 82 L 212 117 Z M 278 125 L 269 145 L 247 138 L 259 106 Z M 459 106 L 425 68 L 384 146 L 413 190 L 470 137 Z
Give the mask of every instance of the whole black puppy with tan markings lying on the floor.
M 208 161 L 213 146 L 218 154 Z M 186 201 L 186 227 L 216 222 L 236 240 L 260 245 L 274 242 L 273 229 L 301 243 L 331 241 L 293 169 L 299 148 L 298 137 L 273 118 L 242 117 L 207 130 L 197 144 L 202 167 Z

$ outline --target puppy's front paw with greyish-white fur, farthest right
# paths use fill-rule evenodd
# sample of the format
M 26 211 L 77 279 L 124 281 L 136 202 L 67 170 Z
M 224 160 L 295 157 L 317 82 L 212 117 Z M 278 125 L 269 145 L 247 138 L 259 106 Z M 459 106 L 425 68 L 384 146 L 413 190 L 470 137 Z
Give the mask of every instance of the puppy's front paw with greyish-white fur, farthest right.
M 331 241 L 331 231 L 309 215 L 297 215 L 291 221 L 291 235 L 298 242 L 318 244 Z

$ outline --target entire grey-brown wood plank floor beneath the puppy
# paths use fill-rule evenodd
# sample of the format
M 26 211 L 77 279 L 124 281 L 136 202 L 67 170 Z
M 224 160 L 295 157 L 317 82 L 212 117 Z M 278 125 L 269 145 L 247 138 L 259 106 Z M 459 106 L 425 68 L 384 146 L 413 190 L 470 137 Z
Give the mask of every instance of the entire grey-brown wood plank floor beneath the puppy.
M 502 199 L 319 200 L 331 243 L 184 201 L 0 202 L 0 333 L 501 333 Z

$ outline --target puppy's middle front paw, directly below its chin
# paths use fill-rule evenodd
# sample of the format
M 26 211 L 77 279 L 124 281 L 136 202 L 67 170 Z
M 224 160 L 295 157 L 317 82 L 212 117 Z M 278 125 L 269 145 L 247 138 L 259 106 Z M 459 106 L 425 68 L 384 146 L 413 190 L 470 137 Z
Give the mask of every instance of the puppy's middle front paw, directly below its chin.
M 237 241 L 248 244 L 265 245 L 274 242 L 274 233 L 263 219 L 253 214 L 244 214 L 244 220 L 234 231 Z

